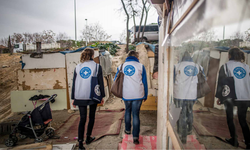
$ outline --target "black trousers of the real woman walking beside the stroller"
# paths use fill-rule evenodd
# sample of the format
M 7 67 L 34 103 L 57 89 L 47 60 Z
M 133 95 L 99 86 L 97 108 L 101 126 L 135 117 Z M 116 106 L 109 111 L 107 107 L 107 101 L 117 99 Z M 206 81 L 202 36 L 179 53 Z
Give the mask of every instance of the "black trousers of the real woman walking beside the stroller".
M 87 129 L 87 136 L 91 136 L 92 130 L 95 123 L 95 112 L 96 112 L 97 104 L 89 105 L 89 123 Z M 87 119 L 87 106 L 79 106 L 80 111 L 80 122 L 78 126 L 78 141 L 84 141 L 84 130 L 85 130 L 85 123 Z

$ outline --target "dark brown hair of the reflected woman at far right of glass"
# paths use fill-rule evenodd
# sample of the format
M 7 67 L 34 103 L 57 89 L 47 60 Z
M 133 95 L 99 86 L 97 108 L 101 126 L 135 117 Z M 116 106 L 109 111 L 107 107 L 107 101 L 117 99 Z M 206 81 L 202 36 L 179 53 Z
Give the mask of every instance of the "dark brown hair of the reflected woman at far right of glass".
M 239 48 L 231 48 L 228 51 L 228 55 L 229 55 L 229 59 L 230 60 L 235 60 L 235 61 L 239 61 L 239 62 L 245 62 L 245 55 L 244 52 L 242 50 L 240 50 Z

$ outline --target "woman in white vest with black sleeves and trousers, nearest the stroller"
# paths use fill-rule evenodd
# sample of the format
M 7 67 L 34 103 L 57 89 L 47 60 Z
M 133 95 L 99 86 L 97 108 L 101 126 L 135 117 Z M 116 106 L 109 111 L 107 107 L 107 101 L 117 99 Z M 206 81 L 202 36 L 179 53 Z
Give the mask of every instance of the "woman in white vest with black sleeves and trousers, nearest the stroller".
M 102 101 L 94 100 L 91 98 L 91 78 L 97 73 L 98 83 L 100 88 L 95 90 L 97 95 L 105 97 L 104 84 L 102 76 L 102 67 L 93 61 L 94 50 L 86 48 L 80 57 L 80 64 L 78 64 L 74 71 L 73 84 L 71 99 L 72 105 L 76 108 L 79 107 L 80 111 L 80 122 L 78 127 L 78 142 L 79 149 L 85 149 L 83 146 L 84 141 L 84 129 L 87 117 L 87 106 L 89 105 L 89 123 L 87 128 L 87 138 L 86 144 L 90 144 L 95 137 L 91 137 L 94 122 L 95 122 L 95 112 L 98 103 L 103 103 Z

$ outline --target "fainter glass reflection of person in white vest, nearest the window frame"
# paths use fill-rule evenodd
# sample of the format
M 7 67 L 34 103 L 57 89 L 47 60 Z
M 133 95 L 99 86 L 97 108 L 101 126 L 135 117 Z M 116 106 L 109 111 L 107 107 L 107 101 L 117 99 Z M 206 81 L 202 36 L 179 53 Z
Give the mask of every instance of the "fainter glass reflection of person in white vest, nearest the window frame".
M 187 135 L 192 133 L 193 105 L 197 100 L 197 74 L 200 69 L 204 75 L 203 68 L 193 62 L 187 51 L 180 62 L 174 65 L 174 104 L 181 109 L 177 132 L 183 144 L 187 142 Z

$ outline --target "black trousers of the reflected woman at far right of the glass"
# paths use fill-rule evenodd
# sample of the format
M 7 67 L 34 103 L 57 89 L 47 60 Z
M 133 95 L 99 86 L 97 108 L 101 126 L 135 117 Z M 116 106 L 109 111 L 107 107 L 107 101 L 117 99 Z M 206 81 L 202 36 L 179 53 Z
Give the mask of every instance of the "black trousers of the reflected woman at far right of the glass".
M 237 134 L 234 126 L 234 118 L 233 118 L 233 107 L 234 104 L 229 101 L 224 102 L 225 108 L 226 108 L 226 114 L 227 114 L 227 125 L 229 128 L 230 136 L 237 140 Z M 246 115 L 247 115 L 247 109 L 248 105 L 246 105 L 244 102 L 237 103 L 238 108 L 238 119 L 240 122 L 240 126 L 244 135 L 245 144 L 250 144 L 250 131 L 249 127 L 246 121 Z

